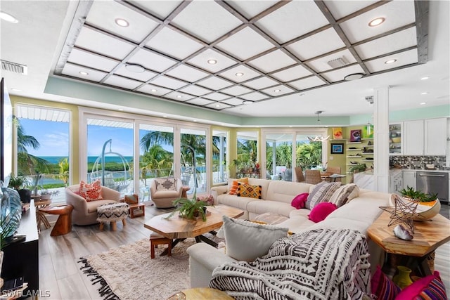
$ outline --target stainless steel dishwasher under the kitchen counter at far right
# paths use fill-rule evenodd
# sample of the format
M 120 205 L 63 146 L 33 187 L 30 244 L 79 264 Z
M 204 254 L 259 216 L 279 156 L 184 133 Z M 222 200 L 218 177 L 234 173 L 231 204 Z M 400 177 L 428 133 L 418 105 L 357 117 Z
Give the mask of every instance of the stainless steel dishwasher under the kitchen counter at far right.
M 445 172 L 417 172 L 416 188 L 425 194 L 436 194 L 440 202 L 449 204 L 449 174 Z

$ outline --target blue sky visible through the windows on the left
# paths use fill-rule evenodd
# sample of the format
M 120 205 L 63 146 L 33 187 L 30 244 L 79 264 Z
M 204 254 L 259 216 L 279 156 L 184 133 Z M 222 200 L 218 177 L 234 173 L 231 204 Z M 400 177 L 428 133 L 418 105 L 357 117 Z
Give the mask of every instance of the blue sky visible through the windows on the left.
M 38 157 L 44 156 L 62 156 L 68 157 L 69 153 L 69 123 L 65 122 L 50 122 L 32 119 L 20 119 L 25 134 L 27 136 L 34 136 L 41 147 L 37 150 L 31 147 L 27 151 L 31 155 Z M 139 133 L 141 138 L 146 131 Z M 112 139 L 111 151 L 120 153 L 123 156 L 133 156 L 133 130 L 116 127 L 105 126 L 88 126 L 88 156 L 101 156 L 103 144 Z M 78 141 L 74 141 L 78 143 Z M 172 148 L 165 147 L 166 150 Z M 110 150 L 107 145 L 105 152 Z

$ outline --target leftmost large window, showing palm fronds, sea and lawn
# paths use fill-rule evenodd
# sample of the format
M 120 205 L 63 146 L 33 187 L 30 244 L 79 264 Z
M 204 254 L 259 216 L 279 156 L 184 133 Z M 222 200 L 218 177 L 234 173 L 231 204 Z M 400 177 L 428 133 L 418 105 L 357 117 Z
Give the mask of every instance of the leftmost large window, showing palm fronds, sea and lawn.
M 53 202 L 65 201 L 70 182 L 70 111 L 16 105 L 17 174 L 32 193 L 49 192 Z

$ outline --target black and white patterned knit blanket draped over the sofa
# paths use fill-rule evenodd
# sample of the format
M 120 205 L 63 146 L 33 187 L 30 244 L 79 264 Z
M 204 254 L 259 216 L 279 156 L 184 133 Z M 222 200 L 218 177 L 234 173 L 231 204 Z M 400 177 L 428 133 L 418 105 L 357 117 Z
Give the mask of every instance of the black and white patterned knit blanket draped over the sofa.
M 235 299 L 361 299 L 370 295 L 366 237 L 316 229 L 283 237 L 250 263 L 214 269 L 210 287 Z

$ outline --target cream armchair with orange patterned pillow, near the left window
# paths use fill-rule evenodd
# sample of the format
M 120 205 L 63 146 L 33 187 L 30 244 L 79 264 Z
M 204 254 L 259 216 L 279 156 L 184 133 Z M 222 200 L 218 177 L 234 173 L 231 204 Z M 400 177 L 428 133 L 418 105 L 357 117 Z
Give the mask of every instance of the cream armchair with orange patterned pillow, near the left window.
M 65 202 L 72 205 L 72 223 L 75 225 L 91 225 L 98 223 L 97 207 L 120 201 L 120 193 L 117 190 L 101 187 L 103 200 L 86 201 L 79 195 L 79 184 L 65 188 Z

